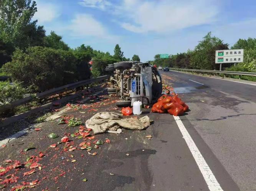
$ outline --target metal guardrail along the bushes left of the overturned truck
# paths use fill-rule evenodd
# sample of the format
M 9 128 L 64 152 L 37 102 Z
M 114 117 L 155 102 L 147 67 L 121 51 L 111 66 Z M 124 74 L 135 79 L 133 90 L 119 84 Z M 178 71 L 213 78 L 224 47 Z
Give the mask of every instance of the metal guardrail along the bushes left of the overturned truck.
M 97 78 L 86 79 L 86 80 L 78 81 L 78 82 L 75 82 L 75 83 L 72 83 L 72 84 L 67 84 L 67 85 L 64 85 L 64 86 L 61 86 L 61 87 L 56 87 L 56 88 L 50 89 L 48 91 L 38 93 L 35 96 L 30 95 L 30 96 L 25 97 L 23 99 L 19 99 L 19 100 L 16 100 L 14 102 L 11 102 L 10 104 L 0 106 L 0 112 L 4 112 L 8 109 L 12 109 L 12 108 L 17 107 L 19 105 L 26 104 L 28 102 L 31 102 L 31 101 L 35 100 L 35 99 L 43 99 L 43 98 L 48 97 L 50 95 L 55 95 L 55 94 L 58 94 L 58 93 L 61 93 L 61 92 L 65 92 L 65 91 L 74 89 L 76 87 L 80 87 L 80 86 L 88 85 L 88 84 L 91 84 L 91 83 L 94 83 L 94 82 L 102 81 L 104 79 L 108 79 L 109 77 L 110 77 L 110 75 L 106 75 L 106 76 L 100 76 L 100 77 L 97 77 Z

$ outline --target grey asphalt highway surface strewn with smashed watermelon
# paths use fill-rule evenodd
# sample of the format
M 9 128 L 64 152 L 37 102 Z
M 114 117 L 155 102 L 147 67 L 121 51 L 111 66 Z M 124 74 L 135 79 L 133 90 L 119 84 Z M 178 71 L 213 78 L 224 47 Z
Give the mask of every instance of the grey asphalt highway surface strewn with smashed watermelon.
M 40 180 L 35 187 L 38 190 L 256 190 L 256 86 L 173 71 L 161 75 L 190 107 L 185 115 L 173 117 L 144 109 L 142 115 L 154 120 L 149 128 L 97 135 L 111 143 L 102 145 L 96 156 L 72 151 L 74 163 L 66 160 L 73 159 L 71 153 L 49 149 L 54 141 L 46 135 L 53 131 L 64 135 L 75 129 L 47 121 L 38 126 L 41 131 L 31 129 L 0 149 L 1 161 L 22 160 L 44 151 L 42 170 L 25 176 L 26 181 Z M 114 107 L 102 105 L 97 112 L 115 111 Z M 93 115 L 85 112 L 72 108 L 64 114 L 85 121 Z M 152 139 L 145 137 L 148 134 Z M 74 140 L 75 144 L 79 141 Z M 31 143 L 36 150 L 21 155 L 20 149 Z M 24 181 L 19 173 L 18 183 L 6 189 Z

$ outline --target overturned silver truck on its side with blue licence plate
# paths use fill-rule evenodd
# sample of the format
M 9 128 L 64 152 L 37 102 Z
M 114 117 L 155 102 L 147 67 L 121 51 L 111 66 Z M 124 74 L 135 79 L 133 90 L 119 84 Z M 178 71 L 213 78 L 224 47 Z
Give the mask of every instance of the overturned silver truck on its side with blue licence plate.
M 161 76 L 148 62 L 118 62 L 108 65 L 106 71 L 112 74 L 108 93 L 121 97 L 116 103 L 119 107 L 132 106 L 139 100 L 145 105 L 153 104 L 162 94 Z

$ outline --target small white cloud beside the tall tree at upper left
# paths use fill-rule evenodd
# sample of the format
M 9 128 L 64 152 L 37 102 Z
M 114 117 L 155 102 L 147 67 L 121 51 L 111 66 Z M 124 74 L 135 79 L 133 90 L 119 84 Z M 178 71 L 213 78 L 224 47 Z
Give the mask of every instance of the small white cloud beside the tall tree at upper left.
M 60 10 L 57 5 L 53 3 L 37 3 L 37 12 L 34 19 L 38 20 L 39 24 L 47 23 L 60 16 Z

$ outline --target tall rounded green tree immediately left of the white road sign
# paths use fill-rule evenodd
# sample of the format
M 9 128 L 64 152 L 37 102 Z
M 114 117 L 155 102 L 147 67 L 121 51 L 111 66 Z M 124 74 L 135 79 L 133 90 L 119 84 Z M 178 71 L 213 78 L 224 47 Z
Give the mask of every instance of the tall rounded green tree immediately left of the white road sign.
M 215 51 L 226 49 L 228 49 L 228 44 L 224 44 L 223 40 L 218 37 L 212 37 L 211 32 L 208 32 L 203 37 L 203 40 L 199 41 L 199 44 L 191 54 L 190 63 L 192 68 L 203 70 L 218 69 L 219 66 L 215 64 Z

